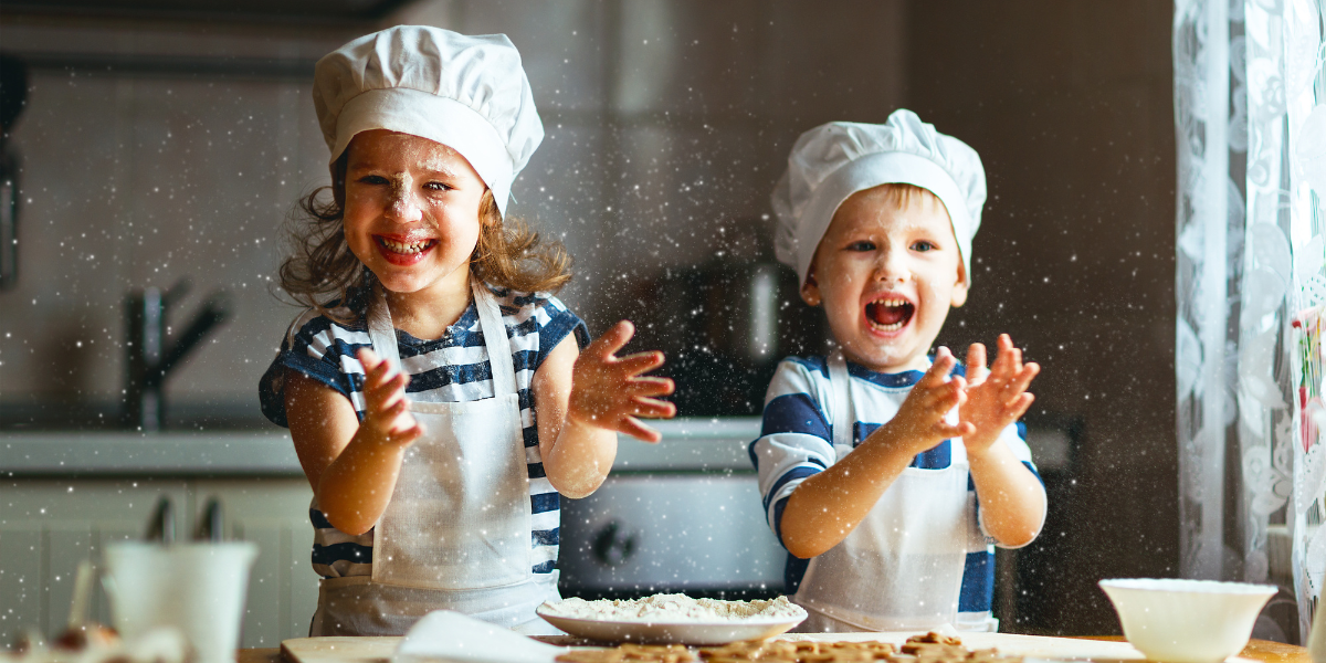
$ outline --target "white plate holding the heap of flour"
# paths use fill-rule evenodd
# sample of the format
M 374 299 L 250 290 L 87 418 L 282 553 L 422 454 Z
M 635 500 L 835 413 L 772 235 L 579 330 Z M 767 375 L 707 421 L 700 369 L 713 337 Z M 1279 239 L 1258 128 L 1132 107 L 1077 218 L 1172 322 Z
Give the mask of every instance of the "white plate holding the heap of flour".
M 723 622 L 615 622 L 607 619 L 575 619 L 548 614 L 545 606 L 536 613 L 548 623 L 577 638 L 601 642 L 635 642 L 642 644 L 727 644 L 737 640 L 758 640 L 786 633 L 806 619 L 800 617 L 728 619 Z

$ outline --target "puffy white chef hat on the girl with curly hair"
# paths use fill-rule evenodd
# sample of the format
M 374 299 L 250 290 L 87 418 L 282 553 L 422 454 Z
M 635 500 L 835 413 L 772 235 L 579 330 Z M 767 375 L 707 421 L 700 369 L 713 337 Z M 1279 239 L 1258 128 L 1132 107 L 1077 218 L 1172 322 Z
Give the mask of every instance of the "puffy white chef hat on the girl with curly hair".
M 520 53 L 505 34 L 398 25 L 318 60 L 313 105 L 332 163 L 359 131 L 443 143 L 469 160 L 507 215 L 511 183 L 544 141 Z

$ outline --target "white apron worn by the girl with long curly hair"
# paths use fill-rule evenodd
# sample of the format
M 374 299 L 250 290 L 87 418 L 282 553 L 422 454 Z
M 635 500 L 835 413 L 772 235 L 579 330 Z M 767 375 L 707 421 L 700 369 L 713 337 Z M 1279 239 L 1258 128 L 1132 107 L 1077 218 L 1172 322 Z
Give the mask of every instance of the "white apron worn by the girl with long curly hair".
M 534 614 L 557 601 L 557 573 L 530 570 L 530 504 L 511 343 L 497 301 L 473 281 L 493 398 L 410 404 L 424 435 L 404 453 L 374 526 L 373 575 L 321 581 L 310 635 L 404 635 L 432 610 L 456 610 L 526 634 L 560 634 Z M 378 294 L 373 349 L 400 370 Z

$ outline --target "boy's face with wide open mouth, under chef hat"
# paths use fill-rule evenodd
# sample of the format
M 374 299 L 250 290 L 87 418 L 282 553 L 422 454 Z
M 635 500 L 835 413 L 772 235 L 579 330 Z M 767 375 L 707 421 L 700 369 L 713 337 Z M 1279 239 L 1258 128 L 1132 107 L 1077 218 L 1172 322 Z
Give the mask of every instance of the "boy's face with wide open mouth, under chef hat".
M 802 288 L 823 302 L 849 359 L 876 373 L 924 370 L 949 306 L 967 301 L 967 274 L 944 206 L 906 207 L 886 187 L 859 191 L 833 217 Z

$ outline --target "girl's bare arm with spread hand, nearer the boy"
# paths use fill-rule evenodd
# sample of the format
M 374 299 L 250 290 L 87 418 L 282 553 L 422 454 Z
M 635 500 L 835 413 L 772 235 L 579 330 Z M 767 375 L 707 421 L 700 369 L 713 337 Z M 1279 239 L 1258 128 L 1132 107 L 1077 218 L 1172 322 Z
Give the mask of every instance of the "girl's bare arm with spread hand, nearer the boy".
M 668 378 L 642 375 L 663 365 L 663 353 L 615 357 L 635 328 L 618 322 L 579 353 L 566 338 L 534 371 L 538 451 L 557 492 L 579 499 L 598 489 L 617 457 L 617 434 L 658 442 L 636 416 L 670 418 L 676 406 L 652 396 L 672 392 Z

